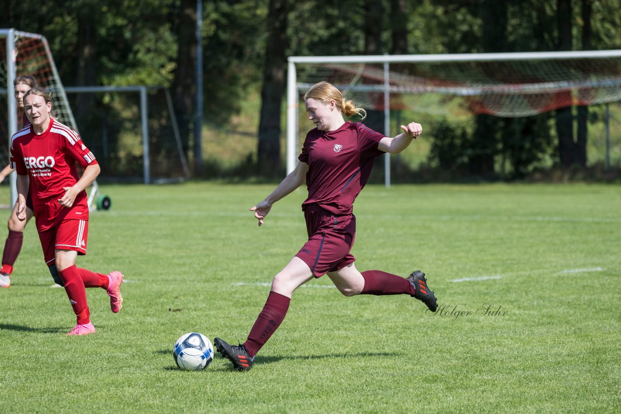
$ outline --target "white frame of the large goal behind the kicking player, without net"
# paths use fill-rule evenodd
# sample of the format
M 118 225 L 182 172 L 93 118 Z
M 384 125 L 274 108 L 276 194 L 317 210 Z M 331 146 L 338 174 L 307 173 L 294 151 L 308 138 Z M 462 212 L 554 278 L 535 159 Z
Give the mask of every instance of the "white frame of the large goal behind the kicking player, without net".
M 611 58 L 620 57 L 621 50 L 588 50 L 570 52 L 518 52 L 518 53 L 455 53 L 445 55 L 356 55 L 356 56 L 289 56 L 287 70 L 287 169 L 286 174 L 296 168 L 297 154 L 299 152 L 298 138 L 298 109 L 299 94 L 309 89 L 312 84 L 298 83 L 296 64 L 312 63 L 383 63 L 384 84 L 376 85 L 335 85 L 337 88 L 347 88 L 350 91 L 374 91 L 384 92 L 384 133 L 390 133 L 390 109 L 388 102 L 392 92 L 404 92 L 402 89 L 392 89 L 389 83 L 389 65 L 391 63 L 439 63 L 439 62 L 473 62 L 473 61 L 510 61 L 510 60 L 559 60 L 581 58 Z M 459 94 L 458 91 L 447 88 L 446 94 Z M 424 91 L 409 91 L 412 93 L 424 93 Z M 469 88 L 462 94 L 477 95 L 482 91 Z M 390 187 L 390 155 L 386 153 L 384 163 L 385 185 Z

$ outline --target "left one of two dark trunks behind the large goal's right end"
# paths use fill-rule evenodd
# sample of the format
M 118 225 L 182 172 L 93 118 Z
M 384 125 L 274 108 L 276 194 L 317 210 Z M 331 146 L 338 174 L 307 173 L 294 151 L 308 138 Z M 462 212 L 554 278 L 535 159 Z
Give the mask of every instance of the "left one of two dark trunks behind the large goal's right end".
M 571 0 L 556 1 L 556 19 L 558 22 L 558 50 L 571 50 Z M 571 107 L 556 110 L 556 135 L 558 135 L 558 152 L 561 166 L 569 168 L 576 162 L 574 156 L 573 116 Z

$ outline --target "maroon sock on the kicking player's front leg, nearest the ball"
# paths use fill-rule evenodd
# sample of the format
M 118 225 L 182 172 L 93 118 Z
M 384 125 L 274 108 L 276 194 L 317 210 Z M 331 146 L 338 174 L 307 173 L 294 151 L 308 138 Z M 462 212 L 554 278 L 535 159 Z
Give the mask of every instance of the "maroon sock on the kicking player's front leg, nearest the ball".
M 255 325 L 252 326 L 248 334 L 248 340 L 243 345 L 248 349 L 250 358 L 253 358 L 259 349 L 270 339 L 274 331 L 283 323 L 284 315 L 289 310 L 291 298 L 276 292 L 270 292 L 268 300 L 259 317 L 256 318 Z

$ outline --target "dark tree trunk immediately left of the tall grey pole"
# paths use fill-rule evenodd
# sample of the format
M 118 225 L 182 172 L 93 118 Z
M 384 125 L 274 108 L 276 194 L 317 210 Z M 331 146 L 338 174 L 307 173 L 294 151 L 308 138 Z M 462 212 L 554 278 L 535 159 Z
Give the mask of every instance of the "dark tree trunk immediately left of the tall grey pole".
M 183 151 L 187 155 L 196 97 L 196 1 L 181 0 L 180 7 L 179 19 L 176 22 L 178 52 L 172 99 Z

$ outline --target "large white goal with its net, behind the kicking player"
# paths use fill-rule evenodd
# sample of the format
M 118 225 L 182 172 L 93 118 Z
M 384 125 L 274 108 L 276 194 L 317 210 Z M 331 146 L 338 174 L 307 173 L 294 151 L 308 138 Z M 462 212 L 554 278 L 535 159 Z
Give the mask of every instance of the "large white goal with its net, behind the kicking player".
M 525 117 L 561 107 L 621 101 L 621 50 L 289 56 L 287 174 L 295 168 L 301 145 L 301 94 L 322 80 L 347 97 L 360 98 L 366 109 L 383 110 L 383 133 L 389 135 L 391 109 Z M 435 96 L 435 104 L 419 99 L 422 96 Z M 386 166 L 389 186 L 388 162 Z

